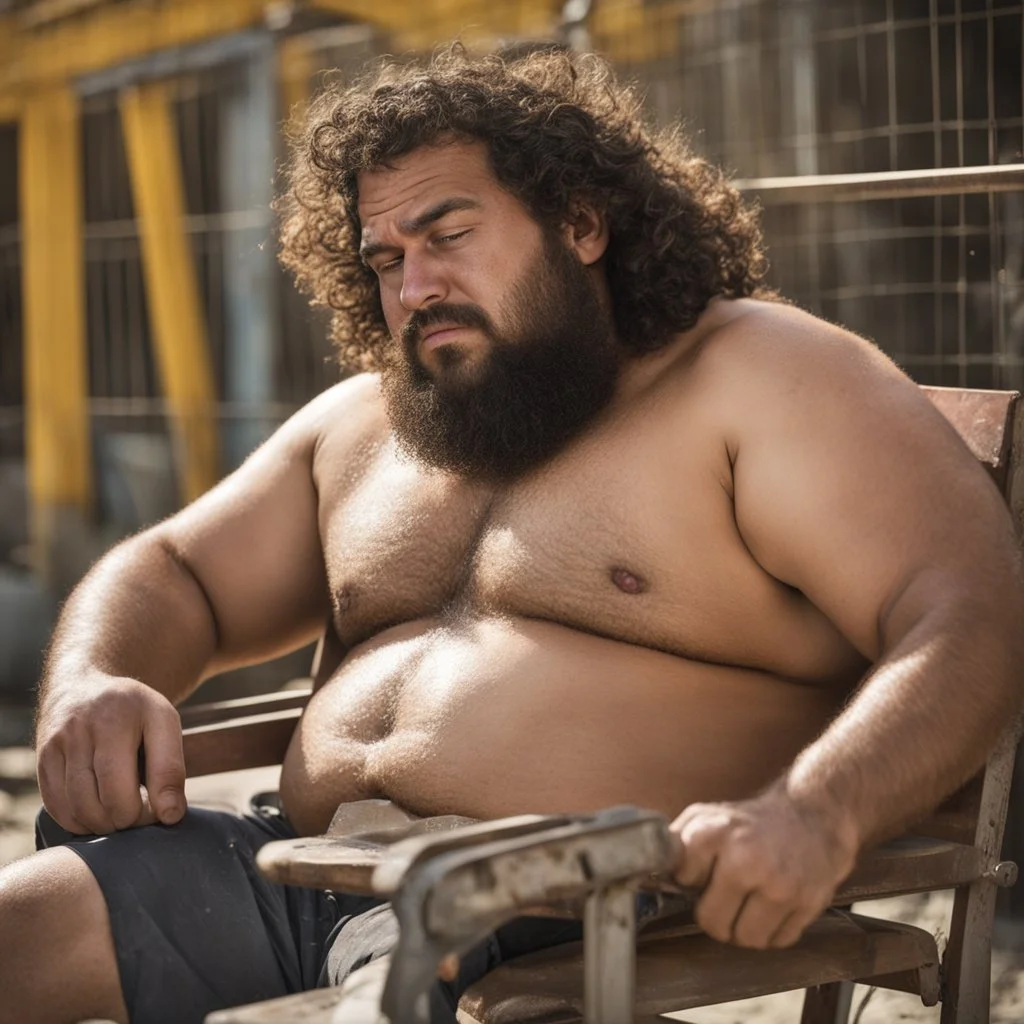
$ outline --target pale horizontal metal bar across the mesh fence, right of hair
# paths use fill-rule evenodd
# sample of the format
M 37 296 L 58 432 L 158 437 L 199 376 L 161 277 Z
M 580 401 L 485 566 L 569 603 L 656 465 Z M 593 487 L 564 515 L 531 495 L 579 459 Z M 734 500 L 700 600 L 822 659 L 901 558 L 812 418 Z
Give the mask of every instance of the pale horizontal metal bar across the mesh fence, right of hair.
M 765 206 L 784 203 L 857 203 L 918 196 L 965 196 L 971 193 L 1024 190 L 1024 164 L 943 167 L 926 171 L 872 174 L 805 174 L 786 178 L 740 178 L 741 191 Z

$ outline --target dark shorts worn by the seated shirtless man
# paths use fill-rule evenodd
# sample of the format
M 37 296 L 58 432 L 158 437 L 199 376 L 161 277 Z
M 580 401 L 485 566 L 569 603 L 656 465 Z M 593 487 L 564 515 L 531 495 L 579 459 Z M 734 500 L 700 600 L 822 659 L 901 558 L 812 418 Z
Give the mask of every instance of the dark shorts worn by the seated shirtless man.
M 338 985 L 389 952 L 390 905 L 370 896 L 280 886 L 255 866 L 264 843 L 293 839 L 273 808 L 240 817 L 189 808 L 176 825 L 74 837 L 43 811 L 40 846 L 67 845 L 106 900 L 132 1024 L 200 1024 L 226 1007 Z M 582 935 L 575 922 L 522 918 L 462 957 L 431 992 L 431 1024 L 455 1024 L 459 996 L 504 961 Z

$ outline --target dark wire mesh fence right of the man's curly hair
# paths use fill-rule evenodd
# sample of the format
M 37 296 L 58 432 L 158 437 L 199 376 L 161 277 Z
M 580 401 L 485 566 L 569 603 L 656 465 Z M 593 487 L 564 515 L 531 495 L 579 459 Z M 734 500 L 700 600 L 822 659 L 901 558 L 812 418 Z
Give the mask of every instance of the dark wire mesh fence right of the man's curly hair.
M 1022 160 L 1022 4 L 724 0 L 678 53 L 625 69 L 659 119 L 744 178 Z M 918 381 L 1021 387 L 1019 194 L 765 210 L 772 279 L 874 339 Z

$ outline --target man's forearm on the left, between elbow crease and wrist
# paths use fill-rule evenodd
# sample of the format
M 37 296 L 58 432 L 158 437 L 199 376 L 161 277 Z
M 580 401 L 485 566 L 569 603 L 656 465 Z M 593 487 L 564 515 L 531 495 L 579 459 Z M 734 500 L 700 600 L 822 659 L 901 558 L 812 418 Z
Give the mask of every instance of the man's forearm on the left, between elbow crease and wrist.
M 217 647 L 195 577 L 153 531 L 109 552 L 68 599 L 46 658 L 39 706 L 90 673 L 137 679 L 176 702 Z

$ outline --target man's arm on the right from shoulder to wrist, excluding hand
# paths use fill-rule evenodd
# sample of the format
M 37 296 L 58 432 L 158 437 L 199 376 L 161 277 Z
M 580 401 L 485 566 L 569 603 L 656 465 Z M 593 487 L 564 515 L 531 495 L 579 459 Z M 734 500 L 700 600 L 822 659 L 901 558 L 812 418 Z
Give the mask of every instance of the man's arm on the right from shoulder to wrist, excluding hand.
M 976 771 L 1020 707 L 1020 556 L 995 487 L 919 389 L 794 321 L 807 334 L 778 339 L 781 381 L 735 435 L 737 524 L 874 663 L 788 777 L 872 842 Z

